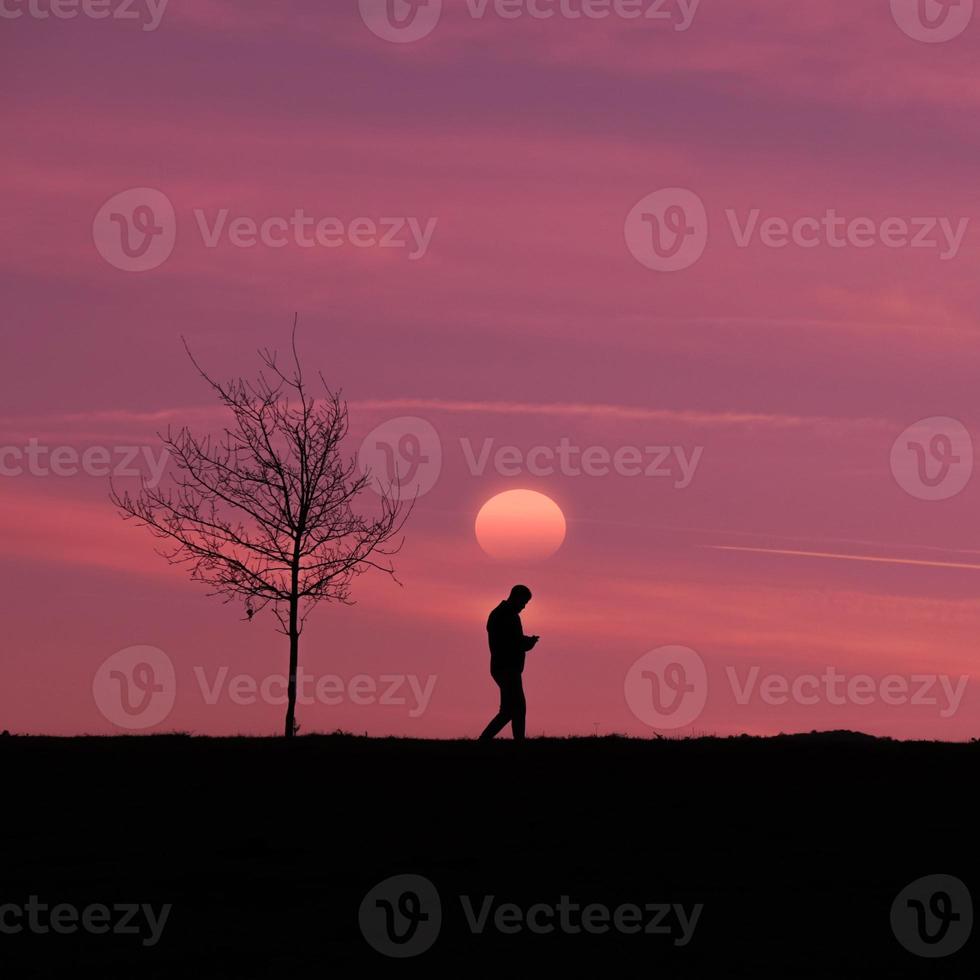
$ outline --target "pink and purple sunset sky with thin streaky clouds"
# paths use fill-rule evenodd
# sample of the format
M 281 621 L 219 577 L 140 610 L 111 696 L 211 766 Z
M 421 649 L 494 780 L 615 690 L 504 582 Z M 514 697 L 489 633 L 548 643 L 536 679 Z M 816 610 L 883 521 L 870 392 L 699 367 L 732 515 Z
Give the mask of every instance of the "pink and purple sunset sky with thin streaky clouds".
M 347 453 L 426 457 L 301 731 L 475 736 L 526 582 L 530 734 L 972 737 L 972 0 L 392 4 L 0 0 L 0 729 L 280 729 L 272 617 L 107 471 L 225 424 L 182 338 L 253 376 L 297 314 Z M 480 547 L 512 489 L 554 554 Z

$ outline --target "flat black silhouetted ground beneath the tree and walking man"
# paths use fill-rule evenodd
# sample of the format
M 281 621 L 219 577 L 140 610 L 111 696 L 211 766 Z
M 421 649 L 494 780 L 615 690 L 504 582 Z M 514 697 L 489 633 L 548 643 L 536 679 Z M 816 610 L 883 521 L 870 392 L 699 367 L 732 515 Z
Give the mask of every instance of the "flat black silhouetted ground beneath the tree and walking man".
M 926 875 L 980 895 L 978 763 L 980 744 L 854 733 L 0 737 L 0 905 L 15 906 L 0 922 L 35 922 L 0 932 L 0 963 L 17 978 L 975 977 L 980 929 L 924 958 L 890 914 Z M 418 906 L 372 892 L 396 875 L 431 883 L 412 882 Z M 62 903 L 62 928 L 105 906 L 89 925 L 137 932 L 41 932 Z M 431 945 L 392 958 L 369 939 Z

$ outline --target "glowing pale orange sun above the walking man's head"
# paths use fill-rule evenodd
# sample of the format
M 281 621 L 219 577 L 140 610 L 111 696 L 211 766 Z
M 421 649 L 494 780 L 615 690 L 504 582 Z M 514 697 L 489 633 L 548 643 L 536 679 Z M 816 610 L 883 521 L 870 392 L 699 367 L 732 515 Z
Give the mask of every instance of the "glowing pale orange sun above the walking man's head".
M 550 558 L 565 540 L 565 515 L 536 490 L 506 490 L 480 508 L 476 540 L 491 558 Z

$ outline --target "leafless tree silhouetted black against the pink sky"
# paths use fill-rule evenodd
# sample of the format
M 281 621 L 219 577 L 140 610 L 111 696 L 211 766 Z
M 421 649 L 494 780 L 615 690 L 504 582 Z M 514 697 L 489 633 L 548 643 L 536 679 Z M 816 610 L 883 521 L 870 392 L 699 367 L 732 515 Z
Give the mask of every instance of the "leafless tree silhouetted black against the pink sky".
M 259 351 L 265 367 L 257 380 L 219 383 L 194 359 L 194 367 L 232 414 L 220 436 L 203 438 L 186 427 L 160 434 L 176 464 L 170 485 L 120 494 L 113 502 L 125 520 L 146 526 L 166 545 L 171 564 L 184 565 L 224 602 L 241 600 L 249 620 L 271 606 L 279 631 L 289 637 L 285 734 L 296 724 L 299 638 L 322 601 L 351 604 L 351 582 L 371 568 L 395 578 L 390 557 L 411 507 L 397 483 L 380 490 L 374 516 L 355 502 L 371 479 L 342 455 L 347 403 L 322 374 L 313 397 L 296 353 L 283 370 L 277 355 Z M 397 579 L 396 579 L 397 581 Z

